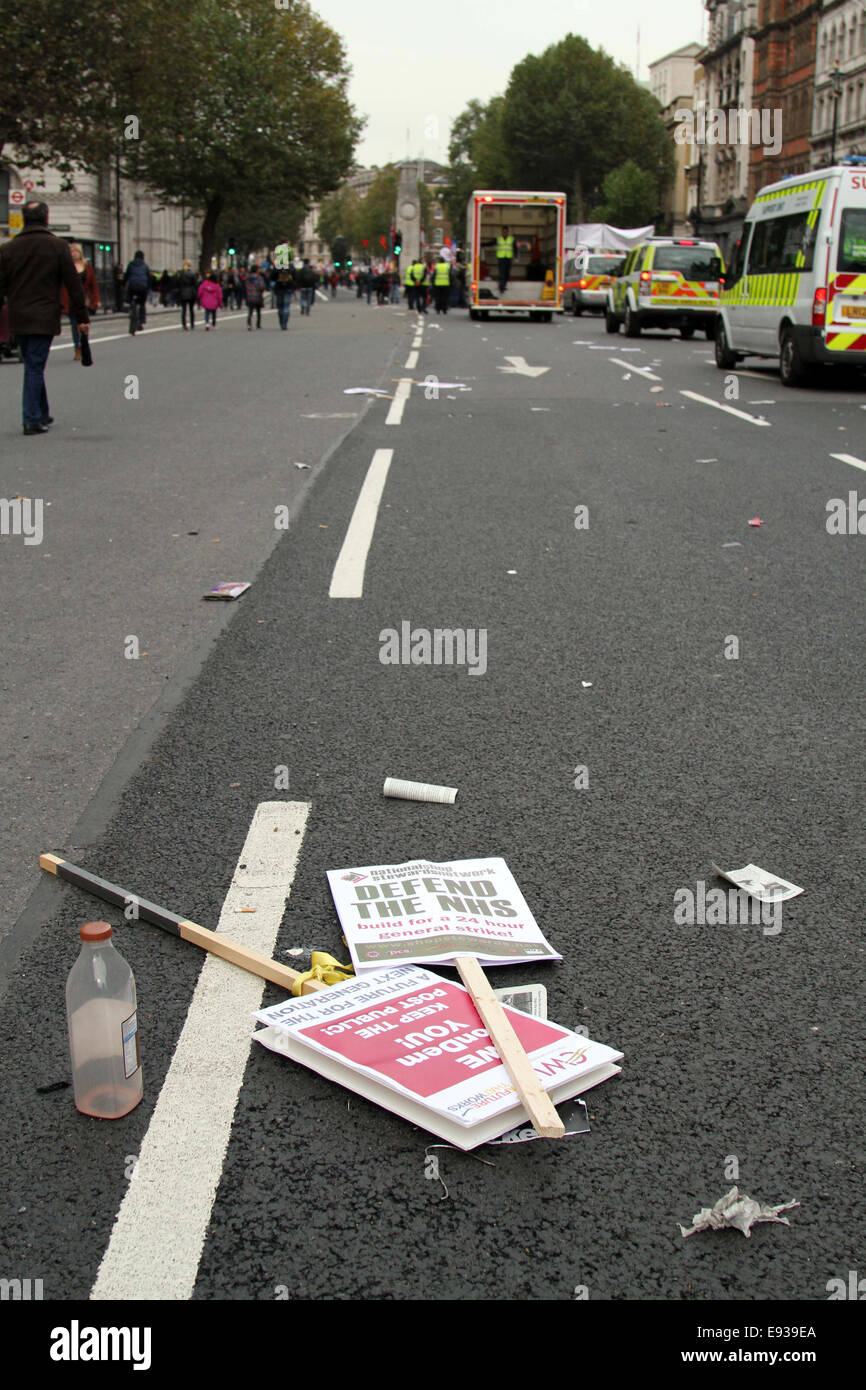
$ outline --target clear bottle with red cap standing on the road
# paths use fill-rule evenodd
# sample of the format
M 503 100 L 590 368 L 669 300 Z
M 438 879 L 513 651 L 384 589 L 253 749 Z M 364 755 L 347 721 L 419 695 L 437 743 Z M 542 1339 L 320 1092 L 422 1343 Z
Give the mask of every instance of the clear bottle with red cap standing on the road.
M 107 922 L 85 922 L 81 955 L 67 980 L 75 1105 L 115 1120 L 142 1098 L 142 1058 L 132 970 Z

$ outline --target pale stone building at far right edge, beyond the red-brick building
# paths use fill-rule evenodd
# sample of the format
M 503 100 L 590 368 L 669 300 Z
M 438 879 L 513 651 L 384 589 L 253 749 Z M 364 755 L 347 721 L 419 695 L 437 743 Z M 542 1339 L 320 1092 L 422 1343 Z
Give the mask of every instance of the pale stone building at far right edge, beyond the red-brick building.
M 866 7 L 859 0 L 824 0 L 817 17 L 812 163 L 826 165 L 845 154 L 866 154 Z

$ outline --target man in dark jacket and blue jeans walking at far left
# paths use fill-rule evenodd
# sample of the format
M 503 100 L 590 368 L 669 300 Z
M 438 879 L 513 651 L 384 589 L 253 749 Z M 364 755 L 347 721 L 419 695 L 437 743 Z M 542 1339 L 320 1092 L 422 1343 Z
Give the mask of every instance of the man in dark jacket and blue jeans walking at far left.
M 49 231 L 46 203 L 24 204 L 24 231 L 0 246 L 0 303 L 8 299 L 10 329 L 24 353 L 24 432 L 44 434 L 51 424 L 44 364 L 60 332 L 60 286 L 82 334 L 90 331 L 81 278 L 67 242 Z

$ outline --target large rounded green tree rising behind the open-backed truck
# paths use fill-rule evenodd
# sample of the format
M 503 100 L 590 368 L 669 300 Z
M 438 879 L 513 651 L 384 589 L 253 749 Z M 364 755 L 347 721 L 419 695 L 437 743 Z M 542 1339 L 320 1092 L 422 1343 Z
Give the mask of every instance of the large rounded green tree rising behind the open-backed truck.
M 673 147 L 656 99 L 585 39 L 566 35 L 518 63 L 502 108 L 512 186 L 562 189 L 570 221 L 606 175 L 634 160 L 660 188 Z

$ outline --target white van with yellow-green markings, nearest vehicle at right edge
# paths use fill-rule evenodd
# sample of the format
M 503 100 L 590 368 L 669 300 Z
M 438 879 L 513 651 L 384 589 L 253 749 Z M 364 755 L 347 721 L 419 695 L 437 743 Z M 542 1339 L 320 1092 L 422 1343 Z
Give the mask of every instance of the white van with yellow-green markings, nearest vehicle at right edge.
M 866 156 L 755 199 L 716 322 L 716 366 L 741 357 L 778 357 L 785 386 L 815 363 L 866 367 Z

